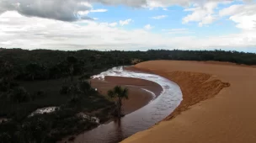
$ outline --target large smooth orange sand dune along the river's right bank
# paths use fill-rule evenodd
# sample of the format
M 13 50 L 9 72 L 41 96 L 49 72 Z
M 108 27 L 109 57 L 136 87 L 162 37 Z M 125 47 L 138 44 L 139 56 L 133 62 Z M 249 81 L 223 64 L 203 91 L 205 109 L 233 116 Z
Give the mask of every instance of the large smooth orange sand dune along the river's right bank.
M 165 121 L 123 142 L 256 142 L 256 68 L 197 61 L 147 61 L 136 67 L 177 82 L 186 102 Z

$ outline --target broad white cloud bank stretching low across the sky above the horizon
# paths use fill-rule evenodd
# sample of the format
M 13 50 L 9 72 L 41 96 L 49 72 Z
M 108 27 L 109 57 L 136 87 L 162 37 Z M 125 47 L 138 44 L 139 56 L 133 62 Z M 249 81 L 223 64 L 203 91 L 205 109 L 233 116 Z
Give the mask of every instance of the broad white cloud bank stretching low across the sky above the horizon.
M 225 49 L 243 50 L 256 46 L 256 31 L 222 36 L 175 36 L 175 34 L 152 34 L 144 29 L 124 30 L 95 21 L 68 23 L 51 19 L 28 18 L 19 13 L 0 15 L 8 19 L 0 24 L 0 47 L 58 50 L 137 50 L 145 47 L 164 49 Z M 112 23 L 113 24 L 113 23 Z M 114 24 L 113 24 L 114 25 Z M 152 26 L 149 26 L 152 27 Z M 183 31 L 185 29 L 170 29 Z M 238 49 L 242 48 L 242 49 Z

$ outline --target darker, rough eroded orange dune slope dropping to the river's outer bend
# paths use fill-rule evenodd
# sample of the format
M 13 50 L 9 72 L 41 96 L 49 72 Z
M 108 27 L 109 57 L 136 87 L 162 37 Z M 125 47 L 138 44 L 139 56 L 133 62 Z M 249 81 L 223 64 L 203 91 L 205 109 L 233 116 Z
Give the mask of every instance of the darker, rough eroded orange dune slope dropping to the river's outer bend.
M 213 98 L 223 87 L 230 86 L 230 83 L 211 79 L 212 76 L 205 73 L 176 71 L 166 73 L 166 75 L 162 74 L 162 76 L 176 82 L 183 93 L 183 101 L 179 107 L 164 120 L 173 119 L 181 112 L 189 109 L 191 105 L 207 98 Z

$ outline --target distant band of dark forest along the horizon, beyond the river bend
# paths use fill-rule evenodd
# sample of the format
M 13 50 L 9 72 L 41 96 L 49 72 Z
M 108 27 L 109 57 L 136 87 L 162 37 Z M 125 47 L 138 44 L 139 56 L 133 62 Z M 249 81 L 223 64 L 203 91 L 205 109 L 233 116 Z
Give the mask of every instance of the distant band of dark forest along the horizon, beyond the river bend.
M 0 64 L 12 66 L 12 75 L 19 80 L 56 79 L 67 77 L 70 74 L 90 76 L 112 66 L 131 65 L 139 61 L 151 60 L 229 61 L 237 64 L 256 65 L 256 54 L 224 50 L 61 51 L 0 49 Z M 72 65 L 72 71 L 70 65 Z

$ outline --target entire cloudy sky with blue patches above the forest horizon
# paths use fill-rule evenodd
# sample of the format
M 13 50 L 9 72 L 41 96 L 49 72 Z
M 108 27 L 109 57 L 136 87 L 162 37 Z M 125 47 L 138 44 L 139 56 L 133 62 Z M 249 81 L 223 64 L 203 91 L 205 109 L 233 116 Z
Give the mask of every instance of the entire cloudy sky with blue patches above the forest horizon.
M 256 0 L 0 0 L 0 47 L 256 52 Z

